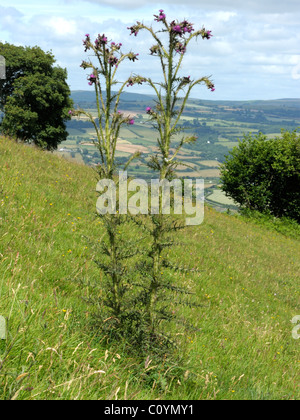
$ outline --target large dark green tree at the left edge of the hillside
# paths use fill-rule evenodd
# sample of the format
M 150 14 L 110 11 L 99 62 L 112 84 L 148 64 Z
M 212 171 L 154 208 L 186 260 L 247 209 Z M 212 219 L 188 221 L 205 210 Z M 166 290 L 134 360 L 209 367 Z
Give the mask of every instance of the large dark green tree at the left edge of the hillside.
M 1 131 L 44 149 L 56 149 L 67 138 L 65 121 L 73 105 L 67 71 L 54 67 L 51 53 L 39 47 L 0 43 L 7 78 L 0 82 Z

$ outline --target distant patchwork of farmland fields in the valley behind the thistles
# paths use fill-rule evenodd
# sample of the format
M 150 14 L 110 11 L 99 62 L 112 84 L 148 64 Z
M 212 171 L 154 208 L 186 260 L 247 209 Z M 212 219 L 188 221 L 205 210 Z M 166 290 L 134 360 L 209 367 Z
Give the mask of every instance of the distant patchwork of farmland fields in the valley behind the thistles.
M 75 103 L 92 113 L 96 118 L 93 92 L 72 92 Z M 156 152 L 157 132 L 145 112 L 152 105 L 152 97 L 128 94 L 121 99 L 120 110 L 135 120 L 131 127 L 120 131 L 116 157 L 125 163 L 135 151 L 141 157 L 128 168 L 130 176 L 150 179 L 156 175 L 147 167 L 149 156 Z M 147 104 L 147 105 L 145 105 Z M 180 122 L 182 133 L 174 136 L 174 147 L 183 135 L 197 135 L 195 144 L 187 145 L 180 151 L 178 168 L 180 177 L 201 177 L 205 180 L 206 196 L 210 203 L 226 209 L 228 199 L 215 190 L 219 183 L 219 166 L 225 156 L 238 144 L 244 134 L 259 132 L 267 138 L 279 136 L 282 129 L 294 130 L 300 127 L 300 100 L 278 101 L 201 101 L 191 99 Z M 69 137 L 61 144 L 57 153 L 80 163 L 95 166 L 99 163 L 99 153 L 92 141 L 95 132 L 85 117 L 73 119 L 67 125 Z M 175 148 L 172 149 L 175 151 Z M 231 203 L 232 204 L 232 203 Z

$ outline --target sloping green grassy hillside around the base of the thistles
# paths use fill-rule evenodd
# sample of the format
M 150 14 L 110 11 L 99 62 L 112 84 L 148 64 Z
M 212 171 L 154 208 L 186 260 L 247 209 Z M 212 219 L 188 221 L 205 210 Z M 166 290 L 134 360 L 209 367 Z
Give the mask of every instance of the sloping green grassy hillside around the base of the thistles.
M 300 241 L 207 207 L 170 252 L 202 270 L 175 274 L 193 327 L 145 363 L 89 328 L 95 186 L 90 167 L 0 138 L 0 399 L 299 399 Z

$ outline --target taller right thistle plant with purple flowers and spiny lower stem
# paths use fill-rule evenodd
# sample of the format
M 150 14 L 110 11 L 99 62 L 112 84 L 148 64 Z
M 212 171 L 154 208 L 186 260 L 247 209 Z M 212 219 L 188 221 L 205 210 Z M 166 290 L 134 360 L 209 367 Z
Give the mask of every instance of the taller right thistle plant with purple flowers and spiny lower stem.
M 134 36 L 137 36 L 141 30 L 146 30 L 151 34 L 154 44 L 150 47 L 150 54 L 158 58 L 162 71 L 161 82 L 154 82 L 151 78 L 146 78 L 156 95 L 155 108 L 147 107 L 146 112 L 158 132 L 158 153 L 151 157 L 148 165 L 159 173 L 160 181 L 164 181 L 175 178 L 176 167 L 182 165 L 182 162 L 178 160 L 178 154 L 182 147 L 197 140 L 194 135 L 183 135 L 179 144 L 176 144 L 174 139 L 175 135 L 182 131 L 179 121 L 192 89 L 197 85 L 204 84 L 212 92 L 215 90 L 209 77 L 192 80 L 190 75 L 179 75 L 190 42 L 198 37 L 208 40 L 212 34 L 205 28 L 196 31 L 193 24 L 187 20 L 182 22 L 173 20 L 169 23 L 163 10 L 160 10 L 159 14 L 154 17 L 154 20 L 161 25 L 158 31 L 141 22 L 136 22 L 128 29 Z M 166 42 L 164 42 L 165 38 Z M 183 97 L 180 97 L 180 94 L 183 94 Z M 174 245 L 170 234 L 181 229 L 183 225 L 172 217 L 162 214 L 161 197 L 158 214 L 152 214 L 149 219 L 151 220 L 150 226 L 148 223 L 144 227 L 150 233 L 152 242 L 148 252 L 148 261 L 141 264 L 139 270 L 143 278 L 146 279 L 144 292 L 146 313 L 150 330 L 154 333 L 162 320 L 170 320 L 173 317 L 172 313 L 167 310 L 170 305 L 163 304 L 163 302 L 168 302 L 166 291 L 185 293 L 186 291 L 166 280 L 164 274 L 166 268 L 178 269 L 179 267 L 172 265 L 163 256 L 164 250 Z

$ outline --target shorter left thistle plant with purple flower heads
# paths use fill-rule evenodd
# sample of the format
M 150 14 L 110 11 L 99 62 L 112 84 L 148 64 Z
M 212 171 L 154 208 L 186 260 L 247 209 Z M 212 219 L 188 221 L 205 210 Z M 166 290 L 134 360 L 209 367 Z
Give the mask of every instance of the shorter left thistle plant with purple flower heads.
M 90 86 L 94 86 L 97 116 L 94 117 L 90 112 L 84 109 L 71 110 L 73 116 L 85 115 L 95 129 L 96 140 L 94 145 L 100 152 L 100 164 L 97 167 L 98 180 L 114 180 L 116 171 L 116 147 L 122 125 L 133 125 L 134 119 L 131 116 L 125 116 L 118 110 L 121 94 L 125 87 L 133 86 L 135 83 L 141 84 L 144 79 L 140 76 L 130 76 L 126 81 L 119 83 L 116 80 L 116 73 L 122 62 L 126 59 L 135 62 L 138 54 L 130 51 L 122 53 L 122 44 L 109 42 L 108 38 L 98 35 L 92 42 L 89 34 L 85 35 L 83 41 L 85 52 L 89 52 L 97 61 L 97 65 L 90 59 L 83 61 L 81 67 L 89 69 L 91 73 L 87 80 Z M 117 91 L 113 91 L 119 85 Z M 132 155 L 125 168 L 137 154 Z M 116 207 L 118 207 L 119 197 L 117 197 Z M 113 324 L 122 325 L 122 319 L 126 315 L 128 305 L 125 304 L 126 291 L 128 290 L 128 276 L 126 261 L 133 256 L 136 247 L 122 238 L 122 227 L 128 222 L 126 215 L 120 215 L 118 212 L 110 214 L 104 212 L 98 214 L 105 228 L 105 236 L 100 244 L 100 258 L 95 262 L 104 273 L 104 283 L 102 288 L 101 311 L 104 308 L 104 316 L 112 320 Z M 124 229 L 123 229 L 124 230 Z M 99 303 L 99 302 L 98 302 Z M 108 324 L 107 324 L 108 325 Z

